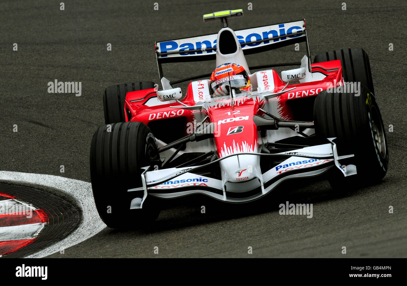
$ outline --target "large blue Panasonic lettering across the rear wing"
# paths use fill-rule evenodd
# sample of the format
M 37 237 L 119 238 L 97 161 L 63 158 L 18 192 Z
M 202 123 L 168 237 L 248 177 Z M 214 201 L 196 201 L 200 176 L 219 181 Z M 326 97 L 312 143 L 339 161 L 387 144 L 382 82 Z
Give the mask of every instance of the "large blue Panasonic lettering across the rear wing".
M 260 27 L 261 28 L 261 27 Z M 266 27 L 263 27 L 266 28 Z M 259 29 L 253 29 L 253 30 L 259 30 Z M 301 35 L 292 35 L 289 36 L 290 34 L 296 33 L 301 31 L 302 28 L 300 26 L 291 26 L 288 27 L 287 30 L 284 27 L 284 24 L 279 24 L 278 25 L 278 30 L 259 30 L 259 32 L 256 33 L 250 33 L 249 35 L 247 35 L 246 37 L 239 35 L 237 33 L 244 33 L 247 32 L 247 30 L 242 30 L 242 31 L 237 31 L 236 32 L 236 37 L 239 40 L 239 43 L 241 45 L 241 47 L 243 48 L 246 43 L 248 47 L 255 47 L 257 45 L 261 45 L 261 44 L 268 44 L 269 41 L 261 41 L 261 40 L 267 40 L 269 38 L 274 38 L 274 37 L 279 37 L 279 36 L 284 36 L 287 35 L 287 37 L 289 38 L 296 38 L 296 37 L 300 37 Z M 213 35 L 216 36 L 216 35 Z M 209 37 L 209 36 L 208 36 Z M 278 39 L 274 39 L 273 42 L 278 42 L 278 41 L 284 41 L 287 39 L 287 37 L 281 37 Z M 191 38 L 192 39 L 192 38 Z M 188 39 L 187 39 L 188 40 Z M 180 40 L 182 41 L 182 40 Z M 195 43 L 181 43 L 178 46 L 178 43 L 176 41 L 165 41 L 165 42 L 161 42 L 159 43 L 160 45 L 160 53 L 166 53 L 166 52 L 171 52 L 171 51 L 177 51 L 179 50 L 179 55 L 181 56 L 188 56 L 188 55 L 193 55 L 193 54 L 202 54 L 206 49 L 208 48 L 216 48 L 216 39 L 211 42 L 209 40 L 204 40 L 204 41 L 198 41 Z M 260 41 L 258 43 L 250 43 L 252 41 Z M 204 45 L 204 47 L 202 46 Z M 191 50 L 198 50 L 197 52 L 188 52 Z M 206 53 L 211 53 L 213 50 L 206 50 Z M 166 57 L 167 55 L 162 55 L 162 57 Z

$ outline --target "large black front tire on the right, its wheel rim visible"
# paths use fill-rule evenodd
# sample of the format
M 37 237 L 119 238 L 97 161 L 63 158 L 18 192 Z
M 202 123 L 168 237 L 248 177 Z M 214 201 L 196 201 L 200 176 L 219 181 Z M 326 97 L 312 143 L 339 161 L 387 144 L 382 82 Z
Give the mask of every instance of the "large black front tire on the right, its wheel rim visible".
M 353 93 L 318 93 L 314 104 L 315 134 L 321 142 L 336 137 L 338 155 L 354 154 L 341 160 L 353 164 L 357 174 L 344 177 L 336 167 L 328 175 L 334 189 L 357 189 L 380 182 L 387 172 L 389 153 L 383 120 L 373 93 L 361 86 Z

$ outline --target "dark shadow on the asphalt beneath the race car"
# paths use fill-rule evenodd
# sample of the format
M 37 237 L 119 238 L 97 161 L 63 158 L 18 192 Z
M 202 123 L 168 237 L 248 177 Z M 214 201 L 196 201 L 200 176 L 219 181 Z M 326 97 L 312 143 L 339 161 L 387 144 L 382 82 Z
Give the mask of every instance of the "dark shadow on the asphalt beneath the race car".
M 151 225 L 137 229 L 135 226 L 128 230 L 111 229 L 109 234 L 117 232 L 134 232 L 135 235 L 165 232 L 188 228 L 190 226 L 205 225 L 219 221 L 229 221 L 242 217 L 278 212 L 279 205 L 288 201 L 290 204 L 318 204 L 352 197 L 370 191 L 370 188 L 356 191 L 335 192 L 328 181 L 314 179 L 298 179 L 282 183 L 277 189 L 254 202 L 244 204 L 228 204 L 211 199 L 204 195 L 190 195 L 179 199 L 163 200 L 165 207 L 157 221 Z M 201 207 L 205 206 L 205 213 Z

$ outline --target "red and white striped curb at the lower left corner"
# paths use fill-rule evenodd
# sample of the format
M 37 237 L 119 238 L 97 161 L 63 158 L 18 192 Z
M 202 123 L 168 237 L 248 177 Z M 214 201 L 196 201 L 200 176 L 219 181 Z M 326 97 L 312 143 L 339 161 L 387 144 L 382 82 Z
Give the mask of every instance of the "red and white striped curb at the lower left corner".
M 0 193 L 0 257 L 33 243 L 47 223 L 42 210 Z

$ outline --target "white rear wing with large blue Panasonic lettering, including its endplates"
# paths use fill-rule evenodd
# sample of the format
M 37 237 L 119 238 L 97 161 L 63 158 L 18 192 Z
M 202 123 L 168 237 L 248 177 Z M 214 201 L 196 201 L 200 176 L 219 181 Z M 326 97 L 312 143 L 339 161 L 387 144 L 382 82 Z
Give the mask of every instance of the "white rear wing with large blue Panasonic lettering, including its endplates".
M 305 19 L 259 26 L 234 31 L 244 54 L 254 54 L 306 42 L 307 56 L 310 57 Z M 155 42 L 158 74 L 162 78 L 162 63 L 185 61 L 208 61 L 216 58 L 218 34 Z M 309 63 L 311 67 L 311 63 Z

